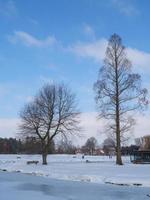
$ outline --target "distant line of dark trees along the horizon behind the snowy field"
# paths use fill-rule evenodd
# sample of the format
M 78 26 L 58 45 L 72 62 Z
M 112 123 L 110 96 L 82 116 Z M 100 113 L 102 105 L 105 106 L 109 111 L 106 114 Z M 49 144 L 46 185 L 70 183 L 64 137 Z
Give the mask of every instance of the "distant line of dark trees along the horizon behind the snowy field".
M 106 138 L 101 145 L 95 137 L 90 137 L 82 146 L 75 146 L 70 140 L 60 140 L 57 144 L 51 142 L 49 154 L 83 154 L 83 155 L 114 155 L 115 143 Z M 97 150 L 101 150 L 97 151 Z M 122 155 L 132 155 L 137 150 L 150 150 L 150 135 L 135 139 L 135 144 L 122 146 Z M 39 140 L 27 137 L 25 140 L 16 138 L 0 138 L 0 154 L 41 154 L 42 147 Z

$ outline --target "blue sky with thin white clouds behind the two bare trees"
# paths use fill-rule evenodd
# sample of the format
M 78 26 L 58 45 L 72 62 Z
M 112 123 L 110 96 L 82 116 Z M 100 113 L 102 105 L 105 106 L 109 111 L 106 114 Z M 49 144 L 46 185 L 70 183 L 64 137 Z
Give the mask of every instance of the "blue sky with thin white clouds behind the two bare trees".
M 82 123 L 97 134 L 92 88 L 113 33 L 149 89 L 149 7 L 147 0 L 0 0 L 0 137 L 15 134 L 20 109 L 47 81 L 70 85 Z M 138 134 L 148 134 L 148 118 L 139 119 Z

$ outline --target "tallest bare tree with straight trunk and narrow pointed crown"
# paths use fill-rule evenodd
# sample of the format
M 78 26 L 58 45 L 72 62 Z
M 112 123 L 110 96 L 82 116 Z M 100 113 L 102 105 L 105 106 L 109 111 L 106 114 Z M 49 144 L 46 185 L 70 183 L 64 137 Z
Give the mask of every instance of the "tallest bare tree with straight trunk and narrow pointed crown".
M 134 125 L 133 111 L 147 104 L 147 90 L 141 88 L 140 75 L 132 73 L 125 47 L 116 34 L 110 37 L 94 89 L 99 117 L 108 120 L 109 130 L 115 135 L 116 164 L 122 165 L 121 138 Z

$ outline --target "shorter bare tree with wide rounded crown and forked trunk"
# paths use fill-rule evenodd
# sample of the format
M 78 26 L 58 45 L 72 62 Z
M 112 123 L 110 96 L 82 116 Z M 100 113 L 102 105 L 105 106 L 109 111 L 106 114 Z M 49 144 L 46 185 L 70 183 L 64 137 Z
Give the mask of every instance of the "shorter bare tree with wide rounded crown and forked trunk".
M 42 145 L 43 164 L 47 164 L 50 142 L 57 136 L 79 130 L 75 95 L 63 84 L 47 84 L 20 113 L 21 133 L 36 136 Z

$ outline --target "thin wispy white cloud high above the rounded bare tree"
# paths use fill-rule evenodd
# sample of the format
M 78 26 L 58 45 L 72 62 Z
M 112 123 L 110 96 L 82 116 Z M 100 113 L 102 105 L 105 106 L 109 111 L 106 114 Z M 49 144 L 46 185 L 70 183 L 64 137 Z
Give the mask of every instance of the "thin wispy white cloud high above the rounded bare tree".
M 13 44 L 22 43 L 25 46 L 35 47 L 48 47 L 57 43 L 54 36 L 48 36 L 45 39 L 37 39 L 24 31 L 14 31 L 13 35 L 8 36 L 8 40 Z

